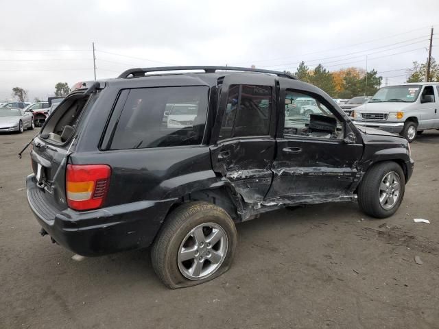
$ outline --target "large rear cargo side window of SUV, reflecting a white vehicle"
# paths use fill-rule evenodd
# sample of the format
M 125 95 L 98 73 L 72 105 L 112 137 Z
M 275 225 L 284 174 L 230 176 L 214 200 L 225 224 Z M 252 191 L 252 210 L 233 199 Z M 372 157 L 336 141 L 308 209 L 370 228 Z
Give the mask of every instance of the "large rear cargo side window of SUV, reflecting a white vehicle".
M 208 95 L 206 86 L 130 90 L 110 149 L 200 145 Z

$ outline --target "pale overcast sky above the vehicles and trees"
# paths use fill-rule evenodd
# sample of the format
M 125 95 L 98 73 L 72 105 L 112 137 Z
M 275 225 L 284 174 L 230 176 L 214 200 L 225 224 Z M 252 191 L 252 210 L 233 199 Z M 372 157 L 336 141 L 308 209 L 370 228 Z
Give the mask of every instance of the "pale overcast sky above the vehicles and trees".
M 438 0 L 3 0 L 1 8 L 0 101 L 14 86 L 32 100 L 53 95 L 57 82 L 93 80 L 93 41 L 98 79 L 169 64 L 364 69 L 367 55 L 389 84 L 425 61 L 431 25 L 439 45 Z

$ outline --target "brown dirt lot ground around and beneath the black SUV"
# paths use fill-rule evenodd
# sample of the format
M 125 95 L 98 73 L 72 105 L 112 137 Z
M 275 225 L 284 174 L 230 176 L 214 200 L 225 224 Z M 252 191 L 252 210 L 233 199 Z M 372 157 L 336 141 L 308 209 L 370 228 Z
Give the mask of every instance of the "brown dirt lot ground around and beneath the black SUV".
M 265 214 L 237 226 L 230 271 L 176 291 L 149 250 L 78 262 L 38 234 L 29 152 L 16 156 L 33 134 L 0 135 L 0 328 L 439 328 L 439 132 L 412 143 L 393 217 L 356 203 Z

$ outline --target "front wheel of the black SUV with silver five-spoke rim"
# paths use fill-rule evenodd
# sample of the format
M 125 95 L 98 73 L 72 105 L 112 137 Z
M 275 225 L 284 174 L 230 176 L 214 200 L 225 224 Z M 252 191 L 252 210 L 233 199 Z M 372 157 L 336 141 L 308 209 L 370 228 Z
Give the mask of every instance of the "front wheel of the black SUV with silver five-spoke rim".
M 405 176 L 393 161 L 379 162 L 364 175 L 358 188 L 359 208 L 376 218 L 392 216 L 403 201 Z

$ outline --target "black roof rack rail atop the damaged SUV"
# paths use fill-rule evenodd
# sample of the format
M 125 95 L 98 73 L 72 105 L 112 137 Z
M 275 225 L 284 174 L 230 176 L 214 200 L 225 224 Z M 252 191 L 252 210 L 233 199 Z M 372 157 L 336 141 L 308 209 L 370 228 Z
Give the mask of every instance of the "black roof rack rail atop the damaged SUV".
M 269 73 L 277 75 L 278 77 L 287 77 L 289 79 L 297 79 L 294 75 L 279 71 L 270 71 L 263 69 L 251 69 L 248 67 L 236 67 L 236 66 L 162 66 L 162 67 L 146 67 L 144 69 L 128 69 L 119 75 L 119 78 L 130 77 L 144 77 L 145 73 L 149 72 L 161 72 L 161 71 L 190 71 L 190 70 L 202 70 L 206 73 L 215 73 L 216 71 L 244 71 L 244 72 L 256 72 L 256 73 Z

